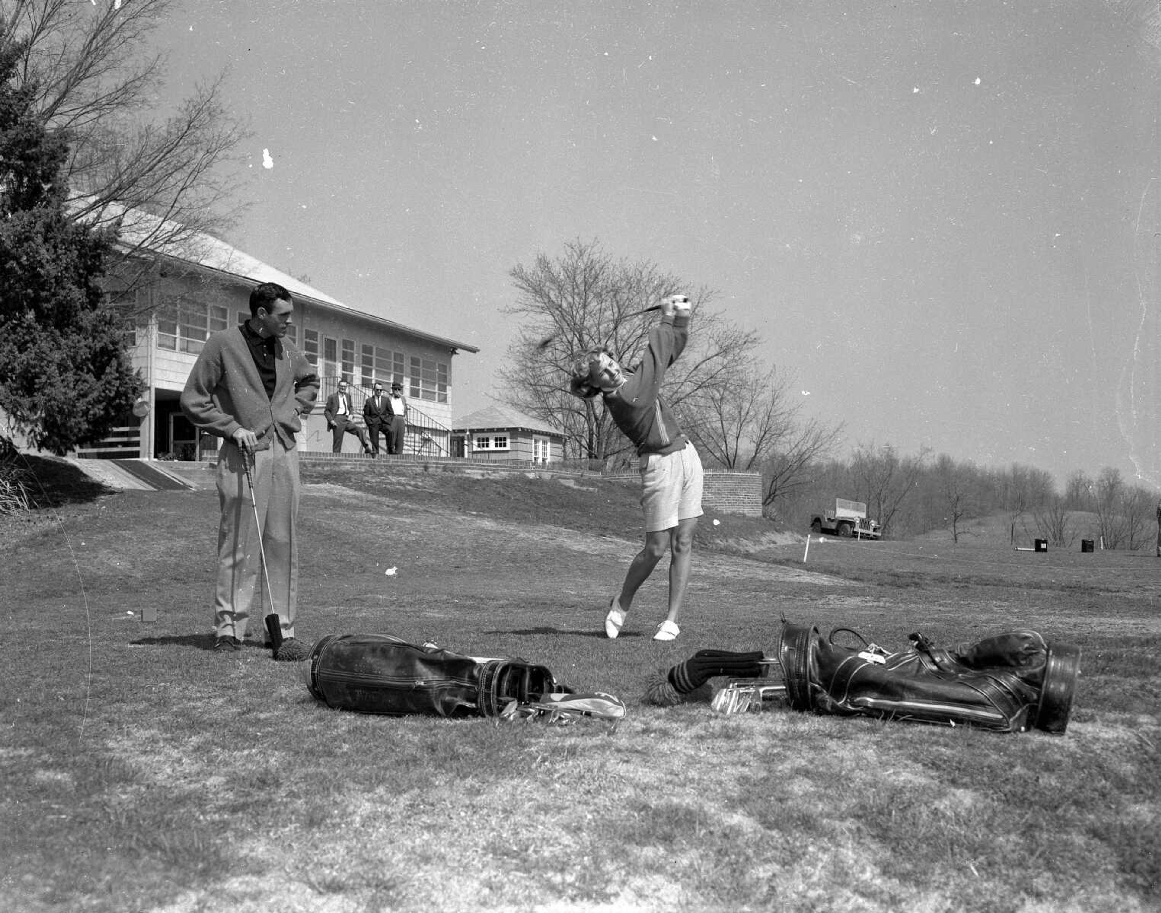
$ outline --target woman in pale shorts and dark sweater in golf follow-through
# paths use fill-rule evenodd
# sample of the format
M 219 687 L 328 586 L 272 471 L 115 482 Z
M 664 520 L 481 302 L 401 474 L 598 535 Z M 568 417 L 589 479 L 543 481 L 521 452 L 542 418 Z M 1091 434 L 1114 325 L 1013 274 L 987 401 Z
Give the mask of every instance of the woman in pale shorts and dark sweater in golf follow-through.
M 682 632 L 677 617 L 690 580 L 693 531 L 701 516 L 701 459 L 661 398 L 665 370 L 677 361 L 688 339 L 690 299 L 670 296 L 661 314 L 661 323 L 649 331 L 644 361 L 635 370 L 622 374 L 607 349 L 591 349 L 574 363 L 569 384 L 569 392 L 583 399 L 601 396 L 616 427 L 641 458 L 646 542 L 629 565 L 620 594 L 608 603 L 608 637 L 621 632 L 634 595 L 666 549 L 671 552 L 669 614 L 657 625 L 654 640 L 672 640 Z

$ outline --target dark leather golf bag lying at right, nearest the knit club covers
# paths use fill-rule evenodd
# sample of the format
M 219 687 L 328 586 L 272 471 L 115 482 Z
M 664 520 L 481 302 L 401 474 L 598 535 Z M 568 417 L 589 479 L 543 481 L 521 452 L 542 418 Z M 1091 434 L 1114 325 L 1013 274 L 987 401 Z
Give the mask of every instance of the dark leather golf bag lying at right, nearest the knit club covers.
M 909 650 L 886 653 L 873 644 L 839 646 L 838 631 L 849 629 L 823 638 L 815 626 L 783 625 L 778 659 L 795 710 L 997 732 L 1068 726 L 1079 647 L 1011 631 L 943 650 L 913 633 Z

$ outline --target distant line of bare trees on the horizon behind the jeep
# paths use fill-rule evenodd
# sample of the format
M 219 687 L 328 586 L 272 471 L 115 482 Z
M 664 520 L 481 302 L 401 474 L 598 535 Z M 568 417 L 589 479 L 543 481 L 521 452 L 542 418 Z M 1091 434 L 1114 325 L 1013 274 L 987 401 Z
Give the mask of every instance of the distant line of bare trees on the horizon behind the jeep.
M 1061 492 L 1033 466 L 983 468 L 925 449 L 906 455 L 887 444 L 860 445 L 849 459 L 809 463 L 772 490 L 774 462 L 765 472 L 765 509 L 795 529 L 808 529 L 812 514 L 848 498 L 866 503 L 887 538 L 946 529 L 958 542 L 971 535 L 971 521 L 1002 514 L 1012 543 L 1034 536 L 1069 548 L 1090 538 L 1105 549 L 1135 550 L 1156 542 L 1158 492 L 1128 484 L 1111 466 L 1096 477 L 1074 471 Z

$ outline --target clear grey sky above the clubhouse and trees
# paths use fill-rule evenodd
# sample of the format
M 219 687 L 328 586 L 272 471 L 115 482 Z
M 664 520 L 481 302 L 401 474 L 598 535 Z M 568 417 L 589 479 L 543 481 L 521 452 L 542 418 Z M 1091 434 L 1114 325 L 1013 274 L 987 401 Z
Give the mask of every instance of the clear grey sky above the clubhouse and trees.
M 512 267 L 597 239 L 714 289 L 841 455 L 1154 487 L 1155 7 L 183 0 L 156 37 L 253 129 L 229 240 L 478 346 L 457 415 Z

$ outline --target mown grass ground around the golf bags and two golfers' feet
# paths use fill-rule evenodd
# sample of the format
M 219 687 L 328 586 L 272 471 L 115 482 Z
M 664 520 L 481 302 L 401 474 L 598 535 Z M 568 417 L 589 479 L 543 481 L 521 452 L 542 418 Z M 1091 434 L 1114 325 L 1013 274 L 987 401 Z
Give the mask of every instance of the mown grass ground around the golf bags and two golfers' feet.
M 707 514 L 682 637 L 649 637 L 662 565 L 610 642 L 632 481 L 304 478 L 300 637 L 520 655 L 619 695 L 628 718 L 610 734 L 331 711 L 301 664 L 209 650 L 214 492 L 63 498 L 0 527 L 0 907 L 1161 905 L 1161 559 L 979 536 L 814 543 L 803 565 L 770 524 Z M 642 702 L 649 671 L 769 648 L 783 617 L 892 650 L 916 630 L 946 645 L 1019 626 L 1079 645 L 1068 732 Z

